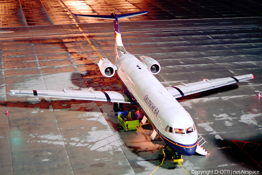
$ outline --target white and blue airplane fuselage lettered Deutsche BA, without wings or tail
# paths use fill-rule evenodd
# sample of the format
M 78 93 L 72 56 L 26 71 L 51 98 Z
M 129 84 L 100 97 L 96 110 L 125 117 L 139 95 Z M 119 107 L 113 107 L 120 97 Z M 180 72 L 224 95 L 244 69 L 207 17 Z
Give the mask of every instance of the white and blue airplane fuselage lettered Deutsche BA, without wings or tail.
M 197 130 L 189 113 L 134 55 L 116 48 L 115 64 L 118 77 L 160 138 L 180 154 L 194 154 Z M 187 128 L 194 130 L 187 133 Z M 175 133 L 174 129 L 183 129 L 184 133 Z

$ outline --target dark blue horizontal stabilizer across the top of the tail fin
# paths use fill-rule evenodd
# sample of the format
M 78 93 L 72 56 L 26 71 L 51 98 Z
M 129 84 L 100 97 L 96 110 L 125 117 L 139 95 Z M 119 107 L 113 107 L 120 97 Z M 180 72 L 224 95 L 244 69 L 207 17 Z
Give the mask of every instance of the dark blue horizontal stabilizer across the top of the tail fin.
M 142 15 L 148 13 L 147 11 L 142 11 L 142 12 L 134 12 L 134 13 L 125 13 L 125 14 L 119 14 L 118 20 L 128 18 L 128 17 L 133 17 L 137 15 Z M 79 14 L 74 14 L 75 16 L 80 16 L 80 17 L 92 17 L 92 18 L 99 18 L 99 19 L 105 19 L 105 20 L 115 20 L 114 15 L 79 15 Z

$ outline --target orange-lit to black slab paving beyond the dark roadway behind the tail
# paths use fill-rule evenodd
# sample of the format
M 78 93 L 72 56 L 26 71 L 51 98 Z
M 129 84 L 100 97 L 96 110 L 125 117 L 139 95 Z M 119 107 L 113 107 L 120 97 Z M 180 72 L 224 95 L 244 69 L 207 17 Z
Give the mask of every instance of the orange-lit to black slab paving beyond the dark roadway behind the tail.
M 75 17 L 73 14 L 131 13 L 148 10 L 147 15 L 126 21 L 261 17 L 258 0 L 7 0 L 0 2 L 0 26 L 21 27 L 73 22 L 105 22 L 105 20 Z M 73 14 L 72 14 L 73 13 Z

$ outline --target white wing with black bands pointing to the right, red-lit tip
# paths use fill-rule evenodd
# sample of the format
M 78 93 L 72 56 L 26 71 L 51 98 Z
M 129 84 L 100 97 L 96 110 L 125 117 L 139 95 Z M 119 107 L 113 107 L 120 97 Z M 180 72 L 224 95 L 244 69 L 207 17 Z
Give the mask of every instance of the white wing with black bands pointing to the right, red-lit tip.
M 179 98 L 191 94 L 195 94 L 198 92 L 203 92 L 210 89 L 219 88 L 226 85 L 231 85 L 237 83 L 239 81 L 245 81 L 249 79 L 253 79 L 254 76 L 252 74 L 234 76 L 228 78 L 217 78 L 213 80 L 204 79 L 204 81 L 195 82 L 195 83 L 180 83 L 180 85 L 167 87 L 168 92 L 174 97 Z

